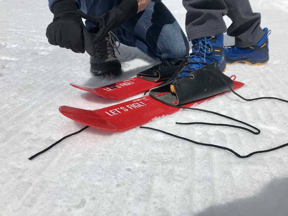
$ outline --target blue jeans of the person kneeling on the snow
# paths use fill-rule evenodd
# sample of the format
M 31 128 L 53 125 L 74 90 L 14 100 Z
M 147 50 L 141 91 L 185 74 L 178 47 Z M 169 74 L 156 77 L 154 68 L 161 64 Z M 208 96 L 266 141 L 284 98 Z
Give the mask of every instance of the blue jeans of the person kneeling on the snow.
M 82 0 L 81 10 L 101 16 L 121 0 Z M 89 29 L 94 24 L 86 21 Z M 120 43 L 137 47 L 155 60 L 172 60 L 189 54 L 189 43 L 178 22 L 162 2 L 151 2 L 146 9 L 113 30 Z

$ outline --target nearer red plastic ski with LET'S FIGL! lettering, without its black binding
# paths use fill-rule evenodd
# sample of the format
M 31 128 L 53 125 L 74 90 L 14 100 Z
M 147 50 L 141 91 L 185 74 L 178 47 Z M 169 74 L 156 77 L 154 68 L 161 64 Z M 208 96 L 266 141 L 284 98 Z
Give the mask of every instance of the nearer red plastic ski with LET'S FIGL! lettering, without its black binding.
M 244 83 L 241 82 L 233 82 L 234 90 L 241 88 L 244 85 Z M 183 106 L 192 107 L 195 104 L 211 100 L 216 96 L 225 94 L 227 92 L 223 92 L 199 101 L 194 101 L 193 103 Z M 160 97 L 163 95 L 164 93 L 155 96 Z M 178 110 L 179 108 L 167 106 L 151 98 L 150 96 L 141 97 L 132 101 L 98 110 L 85 110 L 67 106 L 62 106 L 59 108 L 60 113 L 74 121 L 109 132 L 126 131 L 146 124 L 155 117 L 170 115 Z

